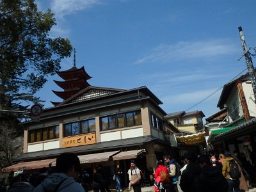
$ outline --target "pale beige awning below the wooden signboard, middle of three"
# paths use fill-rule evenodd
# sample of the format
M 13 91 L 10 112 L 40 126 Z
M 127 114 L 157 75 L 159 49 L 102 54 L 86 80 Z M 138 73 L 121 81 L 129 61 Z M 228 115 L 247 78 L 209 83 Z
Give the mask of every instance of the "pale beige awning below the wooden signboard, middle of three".
M 95 162 L 108 161 L 109 157 L 114 156 L 118 152 L 120 152 L 120 150 L 103 152 L 99 154 L 88 154 L 88 155 L 83 155 L 78 157 L 80 159 L 80 163 L 95 163 Z

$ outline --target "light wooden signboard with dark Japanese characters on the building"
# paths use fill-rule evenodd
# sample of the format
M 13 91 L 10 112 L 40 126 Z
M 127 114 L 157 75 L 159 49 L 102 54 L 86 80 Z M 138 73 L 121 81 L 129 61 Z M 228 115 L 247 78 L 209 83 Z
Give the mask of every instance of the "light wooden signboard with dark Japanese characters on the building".
M 80 145 L 90 145 L 96 143 L 95 132 L 90 134 L 82 134 L 79 136 L 71 136 L 62 139 L 62 147 L 76 147 Z

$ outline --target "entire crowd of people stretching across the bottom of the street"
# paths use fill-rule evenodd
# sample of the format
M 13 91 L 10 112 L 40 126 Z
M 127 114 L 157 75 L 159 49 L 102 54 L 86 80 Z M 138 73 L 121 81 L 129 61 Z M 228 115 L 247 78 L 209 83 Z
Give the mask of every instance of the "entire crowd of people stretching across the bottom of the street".
M 178 184 L 184 192 L 238 192 L 248 191 L 251 187 L 250 174 L 253 172 L 253 167 L 246 164 L 243 154 L 237 151 L 234 151 L 234 156 L 230 152 L 219 156 L 188 153 L 184 157 L 183 167 L 174 157 L 166 155 L 157 161 L 155 172 L 153 168 L 141 172 L 133 159 L 127 171 L 116 164 L 113 180 L 117 192 L 122 192 L 124 173 L 129 175 L 129 189 L 132 188 L 134 192 L 141 192 L 145 180 L 154 186 L 156 192 L 179 192 Z M 11 178 L 8 179 L 10 187 L 1 184 L 0 192 L 110 192 L 111 184 L 109 170 L 102 164 L 93 168 L 92 173 L 82 171 L 79 158 L 73 153 L 61 154 L 54 170 L 43 168 L 36 177 L 22 173 Z

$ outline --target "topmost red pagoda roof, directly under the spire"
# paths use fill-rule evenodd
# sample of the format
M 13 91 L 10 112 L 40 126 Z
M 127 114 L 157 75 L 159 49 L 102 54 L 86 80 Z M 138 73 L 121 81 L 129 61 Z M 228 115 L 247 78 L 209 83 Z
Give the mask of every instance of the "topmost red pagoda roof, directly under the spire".
M 92 77 L 89 76 L 86 71 L 84 70 L 84 67 L 77 68 L 76 66 L 63 71 L 56 72 L 58 76 L 60 76 L 64 80 L 69 79 L 91 79 Z

